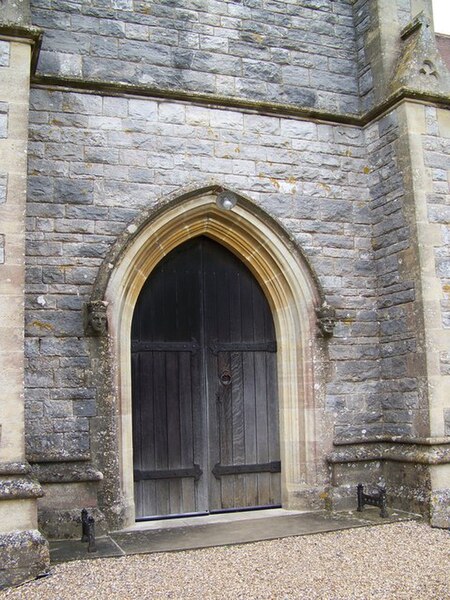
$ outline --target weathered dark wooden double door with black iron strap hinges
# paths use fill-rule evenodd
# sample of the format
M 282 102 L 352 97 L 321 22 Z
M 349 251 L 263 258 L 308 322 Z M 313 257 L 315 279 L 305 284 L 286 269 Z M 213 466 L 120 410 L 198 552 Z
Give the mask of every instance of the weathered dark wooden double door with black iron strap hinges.
M 207 237 L 173 250 L 131 350 L 136 518 L 278 505 L 275 332 L 245 265 Z

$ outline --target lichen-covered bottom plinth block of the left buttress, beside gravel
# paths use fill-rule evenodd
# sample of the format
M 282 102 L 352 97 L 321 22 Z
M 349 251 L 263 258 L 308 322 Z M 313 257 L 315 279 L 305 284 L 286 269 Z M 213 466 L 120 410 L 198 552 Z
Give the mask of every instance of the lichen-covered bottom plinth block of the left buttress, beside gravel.
M 35 529 L 0 534 L 0 589 L 48 572 L 47 540 Z

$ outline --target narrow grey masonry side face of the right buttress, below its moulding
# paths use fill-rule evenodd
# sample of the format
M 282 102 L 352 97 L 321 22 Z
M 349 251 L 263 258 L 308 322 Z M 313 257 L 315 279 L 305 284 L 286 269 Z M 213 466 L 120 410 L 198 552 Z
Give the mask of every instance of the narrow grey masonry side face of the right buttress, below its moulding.
M 424 435 L 421 380 L 416 368 L 415 282 L 414 274 L 404 266 L 408 263 L 410 229 L 405 217 L 404 183 L 397 156 L 398 135 L 395 111 L 365 130 L 378 284 L 378 400 L 384 433 Z

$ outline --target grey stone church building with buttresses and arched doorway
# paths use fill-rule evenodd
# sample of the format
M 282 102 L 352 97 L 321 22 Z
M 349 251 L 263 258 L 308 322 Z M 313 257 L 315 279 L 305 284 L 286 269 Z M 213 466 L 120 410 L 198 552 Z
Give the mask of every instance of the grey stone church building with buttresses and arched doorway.
M 0 588 L 268 507 L 450 524 L 431 0 L 0 0 Z

